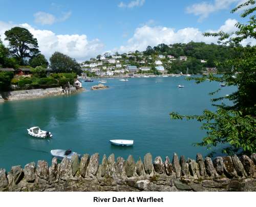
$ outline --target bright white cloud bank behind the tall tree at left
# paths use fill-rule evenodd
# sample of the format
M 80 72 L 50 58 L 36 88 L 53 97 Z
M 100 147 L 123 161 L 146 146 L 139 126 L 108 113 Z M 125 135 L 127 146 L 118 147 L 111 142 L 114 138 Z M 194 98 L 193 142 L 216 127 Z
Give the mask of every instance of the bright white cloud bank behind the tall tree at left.
M 104 49 L 104 44 L 99 39 L 88 40 L 85 34 L 57 35 L 50 30 L 38 30 L 28 24 L 14 25 L 0 21 L 0 35 L 5 45 L 8 45 L 4 40 L 5 31 L 16 26 L 28 29 L 37 38 L 39 50 L 47 58 L 58 51 L 81 61 L 100 54 Z

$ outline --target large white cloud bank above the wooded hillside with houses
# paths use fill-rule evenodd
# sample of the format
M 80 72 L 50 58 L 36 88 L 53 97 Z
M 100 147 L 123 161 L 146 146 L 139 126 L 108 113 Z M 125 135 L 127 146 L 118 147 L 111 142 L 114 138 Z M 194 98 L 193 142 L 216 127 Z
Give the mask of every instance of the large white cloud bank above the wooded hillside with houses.
M 194 42 L 206 42 L 206 43 L 217 43 L 217 37 L 204 37 L 203 32 L 234 32 L 237 30 L 234 27 L 234 24 L 237 23 L 236 19 L 227 19 L 225 24 L 222 25 L 218 30 L 207 30 L 200 31 L 198 28 L 184 28 L 178 31 L 175 31 L 173 28 L 167 27 L 150 27 L 142 26 L 135 30 L 135 33 L 132 38 L 130 38 L 126 45 L 122 45 L 119 48 L 115 48 L 113 51 L 118 51 L 120 53 L 128 51 L 143 51 L 148 45 L 152 47 L 160 43 L 173 44 L 173 43 L 188 43 L 190 41 Z M 242 42 L 243 45 L 246 45 L 248 42 L 251 42 L 253 45 L 256 44 L 254 39 L 246 39 Z

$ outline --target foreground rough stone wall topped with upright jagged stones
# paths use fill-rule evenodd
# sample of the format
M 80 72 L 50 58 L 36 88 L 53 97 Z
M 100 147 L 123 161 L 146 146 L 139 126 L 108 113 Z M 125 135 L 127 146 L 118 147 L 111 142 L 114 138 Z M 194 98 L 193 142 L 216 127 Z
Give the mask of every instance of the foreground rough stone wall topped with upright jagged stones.
M 74 155 L 51 166 L 44 160 L 0 169 L 0 191 L 256 191 L 256 154 L 172 161 L 147 153 L 135 162 L 111 154 Z

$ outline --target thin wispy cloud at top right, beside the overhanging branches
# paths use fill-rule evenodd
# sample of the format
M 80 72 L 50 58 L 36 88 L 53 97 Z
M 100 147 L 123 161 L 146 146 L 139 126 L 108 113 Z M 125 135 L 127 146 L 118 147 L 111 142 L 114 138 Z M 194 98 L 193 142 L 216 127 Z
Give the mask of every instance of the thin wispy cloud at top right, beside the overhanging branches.
M 201 2 L 186 8 L 186 12 L 199 16 L 199 21 L 208 17 L 210 13 L 217 12 L 222 9 L 229 9 L 233 3 L 241 3 L 244 0 L 215 0 L 213 4 Z

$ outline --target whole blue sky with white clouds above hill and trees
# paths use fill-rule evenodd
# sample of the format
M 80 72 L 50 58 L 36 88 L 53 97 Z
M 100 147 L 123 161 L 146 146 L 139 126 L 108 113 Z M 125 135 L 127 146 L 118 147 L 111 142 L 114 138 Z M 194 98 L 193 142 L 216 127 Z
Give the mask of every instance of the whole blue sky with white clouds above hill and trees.
M 206 43 L 203 32 L 233 32 L 244 19 L 230 10 L 246 0 L 0 0 L 0 38 L 27 28 L 47 58 L 58 51 L 88 60 L 106 51 L 143 51 L 159 43 Z M 247 39 L 246 45 L 255 40 Z

